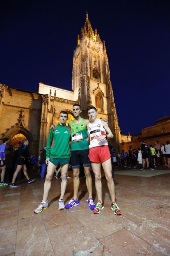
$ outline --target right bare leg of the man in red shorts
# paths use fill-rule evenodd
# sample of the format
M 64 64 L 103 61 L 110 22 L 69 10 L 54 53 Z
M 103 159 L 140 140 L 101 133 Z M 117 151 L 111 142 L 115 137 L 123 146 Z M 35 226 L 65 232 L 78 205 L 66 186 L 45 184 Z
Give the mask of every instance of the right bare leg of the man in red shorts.
M 107 180 L 107 187 L 110 192 L 111 202 L 115 202 L 115 184 L 111 174 L 111 159 L 107 159 L 102 163 L 103 170 Z

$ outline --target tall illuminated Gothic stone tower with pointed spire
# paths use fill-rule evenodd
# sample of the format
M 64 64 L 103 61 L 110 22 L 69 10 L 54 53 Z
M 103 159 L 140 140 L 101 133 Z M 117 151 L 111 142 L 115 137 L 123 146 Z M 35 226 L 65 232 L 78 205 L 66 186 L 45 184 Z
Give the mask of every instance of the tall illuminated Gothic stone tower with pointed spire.
M 119 150 L 120 129 L 114 103 L 110 70 L 104 41 L 100 40 L 97 30 L 92 29 L 88 14 L 81 34 L 78 35 L 74 50 L 72 69 L 72 90 L 75 99 L 82 106 L 82 116 L 87 117 L 87 106 L 94 105 L 98 117 L 106 117 L 114 134 L 110 143 Z

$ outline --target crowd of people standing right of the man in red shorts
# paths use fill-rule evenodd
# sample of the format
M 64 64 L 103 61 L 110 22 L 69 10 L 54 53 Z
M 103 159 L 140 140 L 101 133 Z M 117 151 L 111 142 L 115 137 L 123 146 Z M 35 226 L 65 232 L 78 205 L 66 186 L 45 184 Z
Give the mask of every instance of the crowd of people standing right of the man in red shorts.
M 138 168 L 142 171 L 154 170 L 160 165 L 170 167 L 170 144 L 168 140 L 166 144 L 157 141 L 155 145 L 141 141 L 139 148 L 133 149 L 130 146 L 128 152 L 113 150 L 112 159 L 114 167 Z

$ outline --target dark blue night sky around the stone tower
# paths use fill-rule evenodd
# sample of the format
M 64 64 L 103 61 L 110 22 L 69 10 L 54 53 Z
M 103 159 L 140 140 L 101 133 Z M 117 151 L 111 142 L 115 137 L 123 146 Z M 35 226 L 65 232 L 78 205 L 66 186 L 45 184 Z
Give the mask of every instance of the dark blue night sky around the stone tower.
M 122 134 L 170 115 L 170 1 L 4 1 L 0 83 L 71 90 L 72 58 L 86 10 L 105 41 Z

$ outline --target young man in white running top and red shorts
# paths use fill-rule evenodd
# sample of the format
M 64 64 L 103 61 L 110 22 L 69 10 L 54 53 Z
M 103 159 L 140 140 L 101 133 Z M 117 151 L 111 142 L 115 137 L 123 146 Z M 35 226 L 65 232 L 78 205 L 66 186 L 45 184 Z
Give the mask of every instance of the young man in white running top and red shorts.
M 106 140 L 106 138 L 112 139 L 113 134 L 107 123 L 104 123 L 100 119 L 96 118 L 98 112 L 94 106 L 89 106 L 87 108 L 87 112 L 91 119 L 91 123 L 87 124 L 88 137 L 90 138 L 88 157 L 91 161 L 91 166 L 95 175 L 95 187 L 98 195 L 98 202 L 93 210 L 93 213 L 98 214 L 104 208 L 100 170 L 102 164 L 107 180 L 107 186 L 110 192 L 111 209 L 114 211 L 115 215 L 120 215 L 122 214 L 122 211 L 115 201 L 115 187 L 111 174 L 111 156 L 108 148 L 108 142 Z

